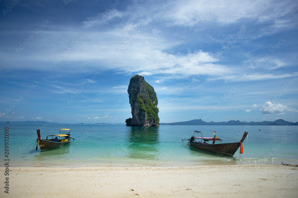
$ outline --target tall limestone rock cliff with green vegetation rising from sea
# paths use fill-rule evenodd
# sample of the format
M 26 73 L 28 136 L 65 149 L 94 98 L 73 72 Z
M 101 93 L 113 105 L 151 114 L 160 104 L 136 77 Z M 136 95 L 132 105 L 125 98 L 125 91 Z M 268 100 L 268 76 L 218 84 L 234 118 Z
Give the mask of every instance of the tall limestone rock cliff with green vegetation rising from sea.
M 159 126 L 157 97 L 154 88 L 143 76 L 135 75 L 128 86 L 132 118 L 126 119 L 127 126 Z

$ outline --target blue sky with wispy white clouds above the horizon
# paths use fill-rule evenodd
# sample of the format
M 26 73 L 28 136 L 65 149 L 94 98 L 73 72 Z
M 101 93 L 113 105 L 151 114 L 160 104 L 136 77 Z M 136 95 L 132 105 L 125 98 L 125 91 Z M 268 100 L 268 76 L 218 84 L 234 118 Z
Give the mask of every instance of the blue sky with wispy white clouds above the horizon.
M 298 2 L 0 2 L 0 121 L 125 123 L 145 77 L 160 123 L 298 121 Z

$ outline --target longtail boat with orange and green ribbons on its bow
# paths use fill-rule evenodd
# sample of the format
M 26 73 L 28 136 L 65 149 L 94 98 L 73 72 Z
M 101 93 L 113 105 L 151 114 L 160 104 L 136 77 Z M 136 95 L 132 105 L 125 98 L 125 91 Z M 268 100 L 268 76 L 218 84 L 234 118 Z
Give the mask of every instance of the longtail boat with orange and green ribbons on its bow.
M 199 133 L 201 133 L 201 137 L 199 137 L 198 135 Z M 193 136 L 190 139 L 187 139 L 188 140 L 187 145 L 202 151 L 217 153 L 218 155 L 221 154 L 221 155 L 233 156 L 239 147 L 240 147 L 240 153 L 241 154 L 243 153 L 242 143 L 245 140 L 248 132 L 244 132 L 240 142 L 232 142 L 232 143 L 221 143 L 222 140 L 215 136 L 215 131 L 213 131 L 213 134 L 214 134 L 214 137 L 202 137 L 202 132 L 195 130 L 193 133 Z M 208 143 L 209 141 L 212 141 L 212 144 L 209 144 Z M 215 142 L 219 142 L 219 143 L 215 144 Z

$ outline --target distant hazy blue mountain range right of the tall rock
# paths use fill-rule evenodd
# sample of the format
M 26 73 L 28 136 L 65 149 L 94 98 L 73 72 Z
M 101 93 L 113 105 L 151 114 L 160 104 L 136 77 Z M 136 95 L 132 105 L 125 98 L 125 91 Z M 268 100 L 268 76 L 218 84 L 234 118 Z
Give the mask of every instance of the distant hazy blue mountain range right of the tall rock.
M 298 126 L 298 122 L 288 122 L 282 119 L 276 121 L 263 121 L 263 122 L 240 122 L 239 120 L 230 120 L 228 122 L 205 122 L 202 119 L 184 121 L 184 122 L 172 122 L 172 123 L 159 123 L 159 125 L 271 125 L 271 126 Z

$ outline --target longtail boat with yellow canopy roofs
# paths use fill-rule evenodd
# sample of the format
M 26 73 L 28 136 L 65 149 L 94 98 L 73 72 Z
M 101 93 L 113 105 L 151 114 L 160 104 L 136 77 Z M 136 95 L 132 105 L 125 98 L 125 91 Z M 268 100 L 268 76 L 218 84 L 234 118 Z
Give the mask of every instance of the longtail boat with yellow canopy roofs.
M 48 135 L 46 136 L 46 140 L 41 139 L 40 136 L 40 129 L 36 129 L 37 131 L 37 145 L 36 145 L 36 151 L 38 150 L 38 145 L 41 149 L 41 151 L 63 147 L 66 144 L 69 144 L 71 139 L 75 140 L 74 138 L 70 137 L 70 129 L 60 129 L 59 134 L 57 135 Z M 50 138 L 48 138 L 50 137 Z

